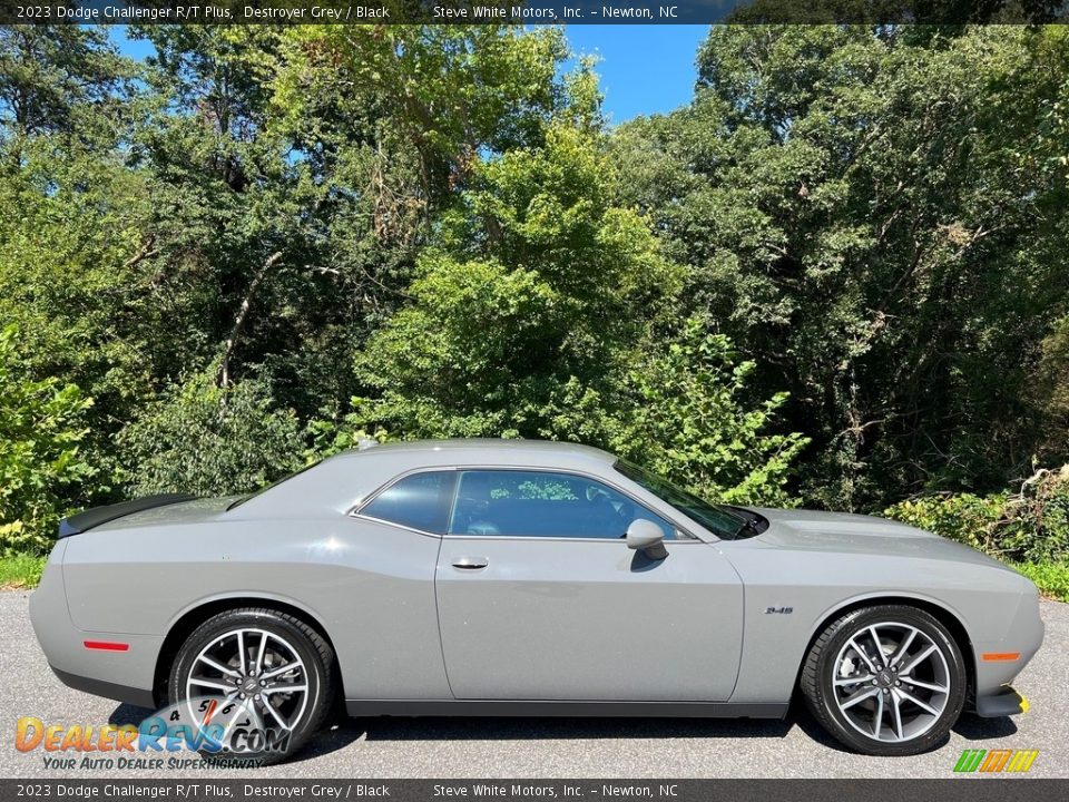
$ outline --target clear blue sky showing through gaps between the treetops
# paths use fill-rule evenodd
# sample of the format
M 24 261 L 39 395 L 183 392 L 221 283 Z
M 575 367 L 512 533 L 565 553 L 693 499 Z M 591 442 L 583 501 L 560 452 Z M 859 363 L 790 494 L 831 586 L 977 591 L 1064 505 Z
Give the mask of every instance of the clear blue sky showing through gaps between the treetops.
M 568 40 L 577 53 L 599 58 L 605 110 L 611 124 L 638 115 L 670 111 L 690 100 L 696 72 L 694 57 L 708 26 L 568 26 Z M 122 52 L 144 58 L 151 46 L 130 41 L 125 28 L 112 37 Z

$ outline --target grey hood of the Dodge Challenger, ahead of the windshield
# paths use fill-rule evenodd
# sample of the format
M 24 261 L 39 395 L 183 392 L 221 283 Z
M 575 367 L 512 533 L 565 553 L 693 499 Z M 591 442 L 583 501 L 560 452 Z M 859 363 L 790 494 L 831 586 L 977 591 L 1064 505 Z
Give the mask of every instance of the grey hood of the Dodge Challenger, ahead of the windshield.
M 756 539 L 777 548 L 918 557 L 1012 570 L 964 544 L 886 518 L 818 510 L 752 509 L 768 519 L 768 529 Z

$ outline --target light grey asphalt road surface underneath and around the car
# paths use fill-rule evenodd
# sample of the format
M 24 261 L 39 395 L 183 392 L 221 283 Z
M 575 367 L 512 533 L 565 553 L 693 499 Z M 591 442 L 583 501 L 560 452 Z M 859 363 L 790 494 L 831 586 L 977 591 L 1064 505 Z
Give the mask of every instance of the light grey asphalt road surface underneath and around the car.
M 46 723 L 139 722 L 148 711 L 63 686 L 30 629 L 29 595 L 0 593 L 0 776 L 174 777 L 49 770 L 40 750 L 14 749 L 20 716 Z M 136 603 L 136 602 L 131 602 Z M 1029 776 L 1069 777 L 1069 605 L 1043 603 L 1047 639 L 1018 678 L 1031 711 L 1013 718 L 965 715 L 947 744 L 916 757 L 876 759 L 837 747 L 802 710 L 784 722 L 614 718 L 351 720 L 318 735 L 267 777 L 947 777 L 964 749 L 1036 749 Z M 192 756 L 192 753 L 189 753 Z M 195 770 L 188 776 L 248 777 Z

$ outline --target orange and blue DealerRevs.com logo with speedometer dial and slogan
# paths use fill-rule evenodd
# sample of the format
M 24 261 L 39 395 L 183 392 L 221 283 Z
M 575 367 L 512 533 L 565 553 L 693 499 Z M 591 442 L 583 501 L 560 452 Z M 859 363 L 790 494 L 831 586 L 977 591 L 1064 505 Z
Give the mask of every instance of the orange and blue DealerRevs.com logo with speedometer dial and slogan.
M 204 698 L 166 707 L 138 725 L 46 724 L 23 716 L 16 725 L 14 747 L 43 753 L 49 769 L 184 769 L 205 762 L 255 766 L 285 752 L 290 735 L 265 726 L 237 703 Z M 183 759 L 179 752 L 200 756 Z

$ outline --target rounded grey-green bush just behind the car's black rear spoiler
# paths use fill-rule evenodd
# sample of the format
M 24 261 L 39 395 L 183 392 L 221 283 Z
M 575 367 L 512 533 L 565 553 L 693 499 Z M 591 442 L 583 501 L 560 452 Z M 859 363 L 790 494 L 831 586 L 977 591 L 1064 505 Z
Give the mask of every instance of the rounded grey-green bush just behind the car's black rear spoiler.
M 228 389 L 204 373 L 173 387 L 118 437 L 133 496 L 222 496 L 263 487 L 304 464 L 296 415 L 255 380 Z

